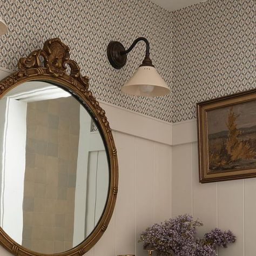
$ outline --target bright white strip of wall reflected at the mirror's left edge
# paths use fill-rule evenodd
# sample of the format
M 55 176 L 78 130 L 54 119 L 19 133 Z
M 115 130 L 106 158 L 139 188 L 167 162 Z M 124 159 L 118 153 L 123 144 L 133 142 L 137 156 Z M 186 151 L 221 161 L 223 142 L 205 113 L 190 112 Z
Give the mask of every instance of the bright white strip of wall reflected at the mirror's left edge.
M 4 127 L 1 125 L 1 226 L 12 239 L 22 244 L 24 182 L 21 180 L 25 174 L 26 103 L 3 99 L 2 106 L 5 117 Z

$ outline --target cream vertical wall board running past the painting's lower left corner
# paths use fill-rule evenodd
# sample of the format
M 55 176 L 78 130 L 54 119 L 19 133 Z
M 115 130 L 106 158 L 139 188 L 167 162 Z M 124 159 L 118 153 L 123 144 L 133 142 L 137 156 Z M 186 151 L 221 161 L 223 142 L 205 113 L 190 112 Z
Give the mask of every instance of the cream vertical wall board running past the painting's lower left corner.
M 193 143 L 193 216 L 204 223 L 198 228 L 198 235 L 217 227 L 217 184 L 199 183 L 197 143 Z

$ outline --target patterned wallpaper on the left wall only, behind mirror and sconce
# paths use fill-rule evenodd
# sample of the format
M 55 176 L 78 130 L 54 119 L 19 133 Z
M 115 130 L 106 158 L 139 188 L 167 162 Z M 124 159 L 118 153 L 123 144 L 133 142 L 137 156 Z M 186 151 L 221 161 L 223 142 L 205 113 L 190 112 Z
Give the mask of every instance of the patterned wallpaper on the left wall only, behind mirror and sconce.
M 16 69 L 17 60 L 42 48 L 51 37 L 70 46 L 71 57 L 90 76 L 97 99 L 171 122 L 170 97 L 126 96 L 120 91 L 145 55 L 140 42 L 122 70 L 110 66 L 106 47 L 117 40 L 130 46 L 145 36 L 159 73 L 171 85 L 171 16 L 149 0 L 0 0 L 9 31 L 0 41 L 1 66 Z

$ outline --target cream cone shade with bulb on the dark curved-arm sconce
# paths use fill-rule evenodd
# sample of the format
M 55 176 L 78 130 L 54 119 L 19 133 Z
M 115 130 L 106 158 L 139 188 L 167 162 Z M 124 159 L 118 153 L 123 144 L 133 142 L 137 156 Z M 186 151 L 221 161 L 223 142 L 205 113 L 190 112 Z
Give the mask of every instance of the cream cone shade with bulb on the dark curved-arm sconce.
M 136 96 L 163 96 L 170 88 L 153 66 L 140 66 L 136 73 L 122 86 L 124 93 Z

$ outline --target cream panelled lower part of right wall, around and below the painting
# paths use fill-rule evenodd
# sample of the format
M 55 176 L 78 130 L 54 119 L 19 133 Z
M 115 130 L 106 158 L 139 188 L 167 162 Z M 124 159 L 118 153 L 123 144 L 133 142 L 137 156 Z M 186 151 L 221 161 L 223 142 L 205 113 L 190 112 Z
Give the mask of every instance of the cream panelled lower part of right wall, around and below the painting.
M 190 213 L 203 221 L 203 235 L 212 228 L 230 229 L 237 241 L 219 256 L 255 255 L 256 179 L 200 184 L 196 120 L 173 125 L 172 216 Z

